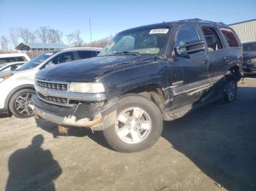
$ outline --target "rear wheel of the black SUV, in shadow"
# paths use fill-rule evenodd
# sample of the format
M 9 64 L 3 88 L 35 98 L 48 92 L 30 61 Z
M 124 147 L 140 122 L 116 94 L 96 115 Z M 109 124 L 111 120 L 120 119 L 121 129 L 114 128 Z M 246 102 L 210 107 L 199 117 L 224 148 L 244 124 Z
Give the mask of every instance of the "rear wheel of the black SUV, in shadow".
M 236 100 L 237 79 L 233 74 L 226 77 L 223 87 L 223 98 L 226 103 L 231 103 Z

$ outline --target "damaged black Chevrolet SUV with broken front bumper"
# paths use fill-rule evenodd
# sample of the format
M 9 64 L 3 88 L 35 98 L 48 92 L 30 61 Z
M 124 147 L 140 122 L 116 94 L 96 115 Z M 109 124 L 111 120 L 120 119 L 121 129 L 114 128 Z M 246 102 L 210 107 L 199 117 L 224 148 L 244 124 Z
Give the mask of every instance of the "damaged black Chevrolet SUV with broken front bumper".
M 223 23 L 132 28 L 96 58 L 39 71 L 35 111 L 59 129 L 103 130 L 117 151 L 137 152 L 159 139 L 163 120 L 218 98 L 234 101 L 241 62 L 238 36 Z

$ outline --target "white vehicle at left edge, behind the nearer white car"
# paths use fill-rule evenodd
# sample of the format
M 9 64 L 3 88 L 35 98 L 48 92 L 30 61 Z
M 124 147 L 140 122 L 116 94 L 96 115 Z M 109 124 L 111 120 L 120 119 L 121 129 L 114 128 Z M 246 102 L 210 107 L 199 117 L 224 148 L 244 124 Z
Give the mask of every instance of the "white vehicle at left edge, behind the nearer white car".
M 30 58 L 25 53 L 0 54 L 0 66 L 3 63 L 27 62 Z

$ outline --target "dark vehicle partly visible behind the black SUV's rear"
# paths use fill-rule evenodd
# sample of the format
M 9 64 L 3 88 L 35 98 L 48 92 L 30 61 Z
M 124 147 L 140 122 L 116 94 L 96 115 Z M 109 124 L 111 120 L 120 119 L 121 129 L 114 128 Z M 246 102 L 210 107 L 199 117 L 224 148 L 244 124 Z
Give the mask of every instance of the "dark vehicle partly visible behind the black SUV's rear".
M 256 74 L 256 41 L 243 43 L 243 65 L 245 74 Z

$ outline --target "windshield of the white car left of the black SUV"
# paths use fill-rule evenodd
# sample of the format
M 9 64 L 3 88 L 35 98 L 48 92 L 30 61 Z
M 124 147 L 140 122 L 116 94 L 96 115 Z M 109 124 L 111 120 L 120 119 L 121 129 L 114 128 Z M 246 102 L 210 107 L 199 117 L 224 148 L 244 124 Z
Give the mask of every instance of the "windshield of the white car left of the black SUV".
M 53 55 L 53 52 L 42 53 L 41 55 L 37 55 L 36 57 L 32 58 L 29 62 L 24 63 L 18 70 L 27 70 L 27 69 L 34 69 L 35 67 L 39 66 L 40 63 L 45 61 Z

